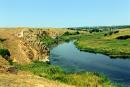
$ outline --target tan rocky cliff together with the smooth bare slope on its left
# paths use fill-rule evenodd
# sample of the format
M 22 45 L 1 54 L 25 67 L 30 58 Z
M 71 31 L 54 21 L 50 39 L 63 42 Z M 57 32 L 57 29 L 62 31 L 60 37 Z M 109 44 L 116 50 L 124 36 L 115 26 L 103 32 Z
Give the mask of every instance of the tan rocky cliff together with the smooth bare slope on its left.
M 63 30 L 51 29 L 1 29 L 0 37 L 6 39 L 4 46 L 10 51 L 11 58 L 17 63 L 29 63 L 33 60 L 48 61 L 49 48 L 41 38 L 48 35 L 51 38 L 63 34 Z

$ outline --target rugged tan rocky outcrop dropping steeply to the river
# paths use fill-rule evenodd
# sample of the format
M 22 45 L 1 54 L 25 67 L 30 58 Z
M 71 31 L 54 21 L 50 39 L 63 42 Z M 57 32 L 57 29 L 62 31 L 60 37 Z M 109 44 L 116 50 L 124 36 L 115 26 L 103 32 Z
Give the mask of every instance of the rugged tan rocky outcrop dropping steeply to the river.
M 23 29 L 16 33 L 15 36 L 20 39 L 19 48 L 29 61 L 49 61 L 49 48 L 43 44 L 41 38 L 44 36 L 56 38 L 59 33 L 43 29 Z

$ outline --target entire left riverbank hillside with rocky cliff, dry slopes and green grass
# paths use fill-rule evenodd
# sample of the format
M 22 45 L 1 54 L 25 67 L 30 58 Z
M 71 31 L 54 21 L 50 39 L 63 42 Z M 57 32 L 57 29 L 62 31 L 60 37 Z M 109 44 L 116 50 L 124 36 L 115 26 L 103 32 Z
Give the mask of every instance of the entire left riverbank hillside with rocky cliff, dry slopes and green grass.
M 81 72 L 67 74 L 60 67 L 45 62 L 49 60 L 50 49 L 48 44 L 53 45 L 53 40 L 58 37 L 61 41 L 68 41 L 82 34 L 83 33 L 79 34 L 79 32 L 75 30 L 67 29 L 1 29 L 0 86 L 114 86 L 109 79 L 98 73 Z

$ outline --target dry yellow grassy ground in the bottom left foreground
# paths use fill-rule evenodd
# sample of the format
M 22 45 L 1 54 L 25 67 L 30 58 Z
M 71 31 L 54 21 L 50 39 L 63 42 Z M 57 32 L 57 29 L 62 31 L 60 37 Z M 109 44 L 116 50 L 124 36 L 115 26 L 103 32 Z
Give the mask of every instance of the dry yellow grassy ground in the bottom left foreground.
M 0 87 L 74 87 L 29 73 L 16 74 L 0 73 Z

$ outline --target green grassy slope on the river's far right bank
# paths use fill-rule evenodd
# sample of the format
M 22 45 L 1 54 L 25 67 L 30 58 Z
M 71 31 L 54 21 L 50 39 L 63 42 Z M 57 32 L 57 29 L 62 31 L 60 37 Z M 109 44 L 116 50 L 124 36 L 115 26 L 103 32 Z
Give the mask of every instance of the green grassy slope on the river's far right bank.
M 104 36 L 104 33 L 87 34 L 75 44 L 84 51 L 99 52 L 111 57 L 130 57 L 130 40 L 115 39 L 122 35 L 130 35 L 130 30 L 120 30 L 119 33 L 111 36 Z

